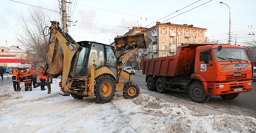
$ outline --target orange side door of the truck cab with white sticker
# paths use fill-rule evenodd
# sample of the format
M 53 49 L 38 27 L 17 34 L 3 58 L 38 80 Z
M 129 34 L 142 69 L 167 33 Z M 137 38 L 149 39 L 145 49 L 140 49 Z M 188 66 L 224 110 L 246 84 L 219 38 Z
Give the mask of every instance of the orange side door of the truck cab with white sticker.
M 201 54 L 203 51 L 197 51 L 196 55 L 199 56 L 199 58 L 196 58 L 196 73 L 200 73 L 204 76 L 204 78 L 207 79 L 207 81 L 214 81 L 214 63 L 213 63 L 213 57 L 212 57 L 212 50 L 208 51 L 207 54 L 207 61 L 209 63 L 204 63 L 204 55 Z

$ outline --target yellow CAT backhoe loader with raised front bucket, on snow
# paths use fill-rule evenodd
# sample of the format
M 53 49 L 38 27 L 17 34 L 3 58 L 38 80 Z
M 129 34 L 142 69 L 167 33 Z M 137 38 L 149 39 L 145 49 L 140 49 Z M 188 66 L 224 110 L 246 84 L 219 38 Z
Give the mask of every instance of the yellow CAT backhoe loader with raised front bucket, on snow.
M 57 78 L 61 75 L 61 91 L 75 99 L 92 99 L 108 103 L 115 92 L 123 92 L 125 98 L 135 98 L 140 89 L 130 81 L 123 66 L 139 48 L 150 43 L 146 33 L 114 38 L 115 46 L 97 42 L 75 42 L 59 22 L 51 21 L 47 61 L 43 75 Z M 63 50 L 58 50 L 58 45 Z

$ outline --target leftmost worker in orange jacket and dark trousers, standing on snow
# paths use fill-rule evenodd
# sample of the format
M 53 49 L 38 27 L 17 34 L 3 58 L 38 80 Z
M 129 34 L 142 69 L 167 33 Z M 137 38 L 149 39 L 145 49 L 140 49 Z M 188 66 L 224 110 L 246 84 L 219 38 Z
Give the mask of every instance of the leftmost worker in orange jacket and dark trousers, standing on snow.
M 21 75 L 22 72 L 20 71 L 20 69 L 17 67 L 14 71 L 9 71 L 7 72 L 10 75 L 12 75 L 12 81 L 13 81 L 13 88 L 14 91 L 17 91 L 17 88 L 20 88 L 20 81 L 21 81 Z M 17 87 L 16 87 L 17 86 Z

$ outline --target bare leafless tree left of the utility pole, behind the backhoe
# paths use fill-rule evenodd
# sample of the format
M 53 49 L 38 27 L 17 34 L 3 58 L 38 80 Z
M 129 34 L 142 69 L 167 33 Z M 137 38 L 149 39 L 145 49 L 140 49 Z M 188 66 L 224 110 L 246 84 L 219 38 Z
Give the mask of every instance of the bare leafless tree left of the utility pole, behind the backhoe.
M 28 59 L 39 67 L 46 61 L 49 36 L 44 36 L 43 30 L 50 24 L 51 15 L 35 7 L 28 8 L 28 12 L 28 16 L 21 15 L 21 29 L 17 28 L 15 33 L 17 41 L 26 49 Z

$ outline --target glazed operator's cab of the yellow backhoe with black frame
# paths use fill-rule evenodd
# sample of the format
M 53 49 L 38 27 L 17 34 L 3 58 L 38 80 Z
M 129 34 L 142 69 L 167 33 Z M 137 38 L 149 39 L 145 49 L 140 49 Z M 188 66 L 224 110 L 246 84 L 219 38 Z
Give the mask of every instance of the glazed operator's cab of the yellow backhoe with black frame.
M 117 61 L 113 46 L 89 41 L 78 42 L 78 44 L 83 48 L 76 66 L 76 76 L 88 76 L 89 66 L 94 66 L 95 70 L 106 66 L 115 73 Z

